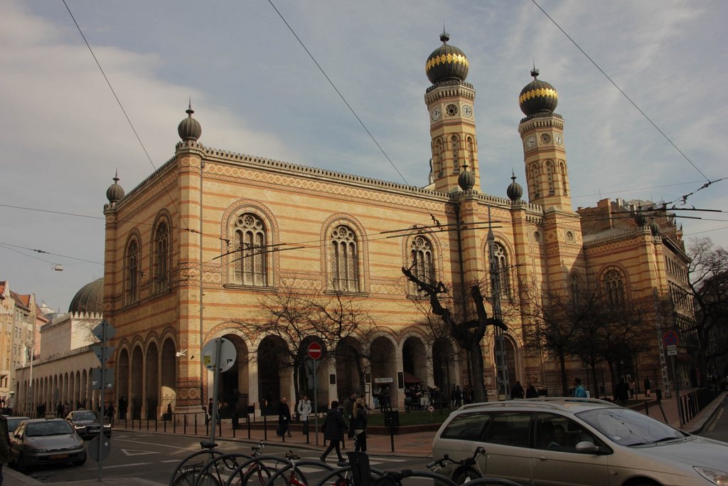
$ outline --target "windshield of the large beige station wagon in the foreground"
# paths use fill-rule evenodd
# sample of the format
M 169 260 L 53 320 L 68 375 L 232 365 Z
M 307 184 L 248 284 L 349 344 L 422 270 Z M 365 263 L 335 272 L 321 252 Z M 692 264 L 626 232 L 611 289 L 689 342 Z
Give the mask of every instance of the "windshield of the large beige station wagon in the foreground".
M 633 446 L 684 439 L 687 434 L 627 408 L 593 409 L 577 415 L 620 445 Z

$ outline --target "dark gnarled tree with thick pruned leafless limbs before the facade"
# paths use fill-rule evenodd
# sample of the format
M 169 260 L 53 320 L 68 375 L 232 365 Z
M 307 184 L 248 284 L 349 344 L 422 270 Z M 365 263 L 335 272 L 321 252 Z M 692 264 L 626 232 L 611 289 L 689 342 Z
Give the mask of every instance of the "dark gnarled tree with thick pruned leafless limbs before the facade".
M 467 351 L 468 363 L 470 364 L 473 375 L 473 399 L 475 401 L 483 401 L 486 393 L 485 384 L 483 383 L 483 351 L 480 349 L 480 341 L 483 340 L 488 325 L 499 326 L 505 330 L 505 324 L 503 324 L 503 321 L 488 318 L 486 307 L 483 305 L 483 295 L 480 294 L 480 286 L 478 285 L 474 285 L 470 289 L 470 297 L 472 297 L 473 303 L 475 304 L 478 318 L 458 324 L 450 310 L 443 307 L 440 303 L 438 296 L 446 292 L 446 287 L 442 282 L 438 281 L 436 285 L 424 282 L 414 275 L 410 269 L 405 267 L 402 267 L 402 273 L 405 274 L 409 281 L 416 284 L 419 291 L 424 292 L 430 297 L 432 313 L 440 316 L 446 324 L 451 337 L 453 337 L 461 348 Z

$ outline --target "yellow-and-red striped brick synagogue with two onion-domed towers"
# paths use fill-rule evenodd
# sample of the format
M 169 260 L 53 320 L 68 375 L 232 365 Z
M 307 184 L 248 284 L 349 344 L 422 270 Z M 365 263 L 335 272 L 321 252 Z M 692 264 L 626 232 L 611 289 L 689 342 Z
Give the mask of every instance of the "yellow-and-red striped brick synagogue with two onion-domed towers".
M 484 376 L 472 377 L 456 342 L 432 332 L 428 321 L 438 317 L 428 315 L 429 299 L 403 267 L 443 282 L 455 297 L 443 295 L 443 305 L 451 307 L 460 306 L 464 289 L 480 285 L 488 315 L 496 272 L 507 324 L 498 356 L 505 356 L 510 385 L 520 380 L 550 394 L 561 392 L 560 365 L 524 338 L 537 301 L 526 294 L 601 288 L 617 307 L 633 296 L 660 302 L 672 294 L 673 305 L 682 306 L 677 311 L 689 318 L 689 304 L 674 298 L 687 285 L 688 259 L 670 214 L 648 218 L 621 200 L 572 207 L 567 123 L 555 111 L 555 88 L 535 69 L 520 96 L 503 93 L 514 103 L 518 98 L 523 111 L 514 128 L 526 181 L 523 187 L 515 177 L 504 181 L 502 195 L 480 191 L 470 61 L 448 44 L 447 34 L 440 40 L 425 64 L 431 85 L 423 116 L 430 120 L 432 160 L 424 187 L 205 146 L 191 107 L 170 160 L 129 192 L 114 178 L 103 207 L 103 317 L 116 329 L 114 388 L 107 396 L 115 403 L 125 397 L 130 413 L 144 418 L 167 407 L 199 411 L 213 393 L 202 347 L 216 337 L 231 341 L 237 353 L 232 369 L 221 374 L 224 407 L 254 405 L 258 413 L 281 397 L 298 398 L 296 390 L 310 396 L 310 366 L 304 359 L 301 369 L 291 367 L 290 356 L 305 358 L 320 336 L 302 336 L 292 350 L 279 335 L 261 332 L 272 319 L 262 302 L 293 295 L 355 302 L 371 323 L 361 335 L 355 329 L 346 336 L 361 356 L 323 343 L 324 357 L 336 358 L 317 363 L 320 406 L 352 390 L 367 393 L 371 403 L 387 386 L 392 405 L 401 407 L 411 383 L 449 391 L 478 379 L 488 399 L 499 398 L 494 328 L 480 342 Z M 473 315 L 458 318 L 475 318 L 472 305 L 465 307 Z M 649 349 L 622 363 L 620 372 L 665 388 L 659 336 L 675 324 L 660 318 L 658 307 L 644 326 Z M 580 359 L 569 359 L 566 371 L 569 381 L 579 376 L 587 388 L 612 390 L 609 372 L 593 374 Z M 590 383 L 591 376 L 599 383 Z M 75 393 L 87 393 L 86 386 Z M 47 386 L 33 389 L 49 393 L 34 401 L 55 398 Z M 75 397 L 67 398 L 73 403 Z

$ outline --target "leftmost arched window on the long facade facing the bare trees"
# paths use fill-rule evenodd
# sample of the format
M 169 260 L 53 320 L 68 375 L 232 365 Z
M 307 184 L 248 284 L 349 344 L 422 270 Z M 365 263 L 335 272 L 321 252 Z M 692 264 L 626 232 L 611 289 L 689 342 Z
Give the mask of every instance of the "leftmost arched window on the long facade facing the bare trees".
M 234 283 L 256 287 L 268 284 L 266 227 L 253 213 L 242 213 L 235 220 Z

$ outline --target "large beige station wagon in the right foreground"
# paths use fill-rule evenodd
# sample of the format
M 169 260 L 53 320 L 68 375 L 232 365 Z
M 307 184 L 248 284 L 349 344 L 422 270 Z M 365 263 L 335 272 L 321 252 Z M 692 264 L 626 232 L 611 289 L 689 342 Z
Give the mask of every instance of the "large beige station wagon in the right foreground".
M 486 453 L 475 455 L 477 447 L 484 447 Z M 433 439 L 432 457 L 445 454 L 456 461 L 475 455 L 472 475 L 501 477 L 521 485 L 728 482 L 728 443 L 687 434 L 597 399 L 464 405 L 451 413 Z M 456 481 L 457 467 L 451 463 L 439 472 Z

